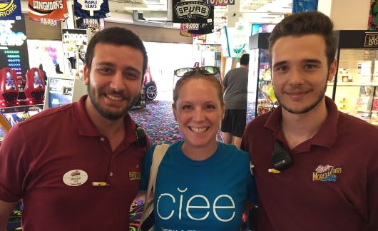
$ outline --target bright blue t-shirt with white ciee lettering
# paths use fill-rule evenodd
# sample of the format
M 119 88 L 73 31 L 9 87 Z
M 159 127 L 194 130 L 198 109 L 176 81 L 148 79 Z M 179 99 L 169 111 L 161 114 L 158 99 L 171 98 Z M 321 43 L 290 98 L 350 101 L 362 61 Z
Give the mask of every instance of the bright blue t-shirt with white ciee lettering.
M 191 160 L 181 145 L 170 145 L 158 169 L 155 230 L 240 230 L 243 202 L 257 202 L 250 156 L 218 142 L 210 158 Z M 153 150 L 143 163 L 141 190 L 148 186 Z

